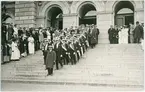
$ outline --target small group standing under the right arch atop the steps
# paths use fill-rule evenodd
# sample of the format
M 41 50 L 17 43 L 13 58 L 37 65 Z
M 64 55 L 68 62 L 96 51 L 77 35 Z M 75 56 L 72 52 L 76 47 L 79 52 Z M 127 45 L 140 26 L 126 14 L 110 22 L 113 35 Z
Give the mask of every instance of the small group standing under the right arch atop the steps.
M 123 27 L 115 27 L 111 25 L 108 30 L 110 44 L 123 44 L 123 43 L 141 43 L 144 39 L 144 24 L 136 22 L 133 24 L 124 25 Z

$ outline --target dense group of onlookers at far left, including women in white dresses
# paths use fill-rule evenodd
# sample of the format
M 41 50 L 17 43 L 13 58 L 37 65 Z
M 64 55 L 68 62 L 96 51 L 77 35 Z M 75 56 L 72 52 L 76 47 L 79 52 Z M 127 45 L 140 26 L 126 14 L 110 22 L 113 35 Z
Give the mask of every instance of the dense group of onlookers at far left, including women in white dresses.
M 17 25 L 2 23 L 1 35 L 1 63 L 19 61 L 40 49 L 39 32 L 34 28 L 18 29 Z

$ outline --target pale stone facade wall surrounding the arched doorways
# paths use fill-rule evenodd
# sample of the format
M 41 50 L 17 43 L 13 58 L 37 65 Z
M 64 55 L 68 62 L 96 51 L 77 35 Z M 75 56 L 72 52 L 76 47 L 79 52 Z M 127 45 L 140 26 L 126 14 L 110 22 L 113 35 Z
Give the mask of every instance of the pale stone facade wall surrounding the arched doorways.
M 34 1 L 16 1 L 15 3 L 15 21 L 21 27 L 47 27 L 46 11 L 58 5 L 63 11 L 63 28 L 79 25 L 78 9 L 82 3 L 90 3 L 96 7 L 97 10 L 97 26 L 100 29 L 99 43 L 109 43 L 108 28 L 114 25 L 114 8 L 119 1 L 107 2 L 86 2 L 73 1 L 71 4 L 67 2 L 43 2 L 42 6 L 36 6 Z M 135 21 L 144 22 L 144 10 L 141 1 L 132 1 L 135 5 Z

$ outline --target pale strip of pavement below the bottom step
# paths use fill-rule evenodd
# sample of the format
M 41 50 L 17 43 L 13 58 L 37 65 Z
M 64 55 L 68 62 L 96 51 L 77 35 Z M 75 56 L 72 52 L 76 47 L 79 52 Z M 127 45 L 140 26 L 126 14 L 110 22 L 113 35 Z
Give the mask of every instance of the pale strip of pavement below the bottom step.
M 142 88 L 128 88 L 128 87 L 104 87 L 104 86 L 84 86 L 84 85 L 48 85 L 48 84 L 28 84 L 28 83 L 3 83 L 2 84 L 2 91 L 33 91 L 33 92 L 38 92 L 38 91 L 61 91 L 61 92 L 71 92 L 71 91 L 105 91 L 111 92 L 111 91 L 141 91 Z

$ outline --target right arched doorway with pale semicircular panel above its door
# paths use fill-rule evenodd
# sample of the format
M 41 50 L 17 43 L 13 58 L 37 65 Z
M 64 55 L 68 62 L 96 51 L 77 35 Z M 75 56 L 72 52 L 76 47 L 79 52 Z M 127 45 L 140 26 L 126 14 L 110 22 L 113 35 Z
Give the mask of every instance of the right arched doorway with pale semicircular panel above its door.
M 120 1 L 115 6 L 115 25 L 129 26 L 129 23 L 134 24 L 134 6 L 130 1 Z

